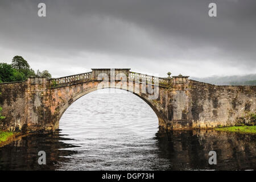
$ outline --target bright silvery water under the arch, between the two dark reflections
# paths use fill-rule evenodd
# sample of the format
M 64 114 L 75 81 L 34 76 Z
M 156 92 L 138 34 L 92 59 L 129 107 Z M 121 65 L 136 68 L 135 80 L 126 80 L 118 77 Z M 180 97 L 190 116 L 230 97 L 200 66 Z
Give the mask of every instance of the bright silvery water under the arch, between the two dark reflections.
M 60 129 L 63 142 L 73 144 L 69 150 L 77 151 L 70 158 L 77 169 L 143 166 L 158 155 L 152 152 L 158 150 L 158 117 L 141 98 L 127 91 L 86 94 L 65 111 Z

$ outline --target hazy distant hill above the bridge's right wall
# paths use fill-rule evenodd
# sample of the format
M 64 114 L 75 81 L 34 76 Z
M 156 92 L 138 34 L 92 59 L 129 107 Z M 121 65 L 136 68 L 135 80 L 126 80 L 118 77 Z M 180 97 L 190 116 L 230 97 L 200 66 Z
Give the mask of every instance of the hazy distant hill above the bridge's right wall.
M 256 74 L 244 76 L 211 76 L 204 78 L 189 77 L 189 79 L 214 85 L 256 85 Z

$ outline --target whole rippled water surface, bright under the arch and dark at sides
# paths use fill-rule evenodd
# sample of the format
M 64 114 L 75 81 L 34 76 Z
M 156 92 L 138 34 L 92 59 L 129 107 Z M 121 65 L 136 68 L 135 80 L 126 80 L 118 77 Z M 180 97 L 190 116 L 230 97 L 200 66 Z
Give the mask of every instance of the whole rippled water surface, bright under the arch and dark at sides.
M 81 97 L 63 114 L 60 129 L 0 148 L 0 169 L 256 169 L 256 135 L 214 130 L 164 133 L 151 107 L 122 90 Z M 41 150 L 47 154 L 47 165 L 37 162 Z M 211 150 L 217 152 L 217 165 L 208 163 Z

